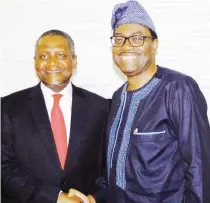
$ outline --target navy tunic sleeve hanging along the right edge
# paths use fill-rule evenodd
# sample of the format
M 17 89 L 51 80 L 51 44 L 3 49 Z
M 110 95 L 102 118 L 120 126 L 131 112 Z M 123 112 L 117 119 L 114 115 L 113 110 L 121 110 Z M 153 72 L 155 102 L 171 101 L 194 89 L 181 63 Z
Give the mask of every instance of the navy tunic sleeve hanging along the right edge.
M 171 115 L 187 164 L 185 203 L 210 203 L 210 126 L 207 104 L 196 82 L 187 78 L 174 89 Z

